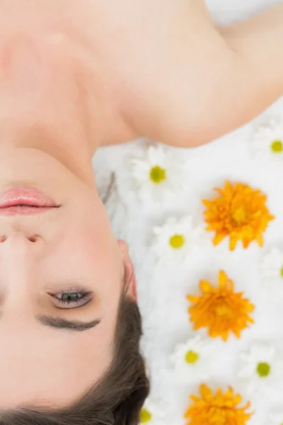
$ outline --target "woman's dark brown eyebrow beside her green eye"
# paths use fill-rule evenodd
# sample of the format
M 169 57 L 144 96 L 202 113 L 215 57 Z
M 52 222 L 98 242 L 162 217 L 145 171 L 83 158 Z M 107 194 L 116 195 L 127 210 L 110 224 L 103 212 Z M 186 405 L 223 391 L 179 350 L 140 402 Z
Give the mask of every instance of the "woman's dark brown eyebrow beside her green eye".
M 100 324 L 101 319 L 92 322 L 80 322 L 79 320 L 67 320 L 61 317 L 37 316 L 38 322 L 45 326 L 56 329 L 67 329 L 69 331 L 83 332 L 92 329 Z

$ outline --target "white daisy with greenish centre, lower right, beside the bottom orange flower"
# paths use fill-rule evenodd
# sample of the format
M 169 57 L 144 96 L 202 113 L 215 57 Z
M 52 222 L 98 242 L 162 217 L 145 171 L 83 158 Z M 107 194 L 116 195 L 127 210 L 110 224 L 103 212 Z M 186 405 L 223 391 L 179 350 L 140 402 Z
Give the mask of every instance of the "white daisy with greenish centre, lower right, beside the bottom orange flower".
M 274 347 L 264 343 L 253 344 L 240 356 L 238 378 L 246 382 L 250 392 L 264 387 L 277 388 L 283 382 L 282 361 Z

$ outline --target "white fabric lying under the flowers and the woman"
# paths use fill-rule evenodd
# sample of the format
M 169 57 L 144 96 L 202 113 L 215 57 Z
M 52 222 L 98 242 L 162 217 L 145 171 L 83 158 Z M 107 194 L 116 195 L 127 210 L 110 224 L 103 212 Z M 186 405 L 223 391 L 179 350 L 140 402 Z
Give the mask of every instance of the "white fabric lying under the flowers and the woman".
M 229 23 L 274 3 L 272 0 L 210 0 L 209 7 L 217 21 Z M 143 141 L 99 149 L 93 159 L 102 198 L 110 184 L 111 173 L 115 171 L 115 187 L 107 208 L 115 235 L 128 242 L 136 268 L 139 306 L 144 319 L 142 349 L 151 373 L 152 397 L 160 398 L 168 407 L 165 424 L 185 423 L 183 414 L 189 396 L 198 394 L 199 388 L 190 382 L 190 378 L 183 382 L 170 372 L 170 356 L 175 345 L 185 342 L 192 334 L 185 296 L 190 292 L 189 288 L 197 288 L 200 278 L 205 276 L 215 281 L 221 268 L 256 305 L 255 325 L 243 331 L 240 340 L 233 337 L 226 343 L 220 339 L 212 340 L 212 363 L 207 384 L 224 389 L 231 385 L 244 400 L 250 400 L 255 414 L 248 425 L 268 425 L 270 413 L 274 409 L 275 412 L 283 409 L 282 391 L 280 394 L 280 391 L 265 388 L 263 393 L 248 394 L 247 386 L 237 378 L 238 358 L 253 342 L 265 341 L 275 346 L 283 358 L 283 305 L 276 299 L 276 294 L 274 298 L 265 297 L 259 267 L 262 256 L 272 246 L 283 248 L 283 167 L 262 166 L 247 148 L 253 128 L 262 119 L 273 116 L 283 118 L 283 98 L 253 123 L 220 140 L 196 149 L 182 149 L 187 164 L 187 190 L 171 208 L 144 210 L 134 191 L 129 162 L 131 157 L 139 156 Z M 176 266 L 168 272 L 158 265 L 149 252 L 153 226 L 160 225 L 172 214 L 190 214 L 196 220 L 202 220 L 202 198 L 209 197 L 212 188 L 221 186 L 225 180 L 243 181 L 267 193 L 268 207 L 276 220 L 265 233 L 265 246 L 260 249 L 253 243 L 246 250 L 239 246 L 231 252 L 225 240 L 217 247 L 209 244 L 196 258 L 193 267 L 184 271 Z M 206 332 L 200 331 L 199 334 L 205 336 Z M 283 382 L 283 374 L 281 380 Z

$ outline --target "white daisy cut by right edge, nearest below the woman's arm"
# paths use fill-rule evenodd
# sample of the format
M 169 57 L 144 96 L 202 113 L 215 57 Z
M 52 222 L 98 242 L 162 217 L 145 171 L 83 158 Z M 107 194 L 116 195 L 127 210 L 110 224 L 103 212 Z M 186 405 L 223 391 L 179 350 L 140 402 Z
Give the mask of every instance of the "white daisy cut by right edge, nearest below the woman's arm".
M 250 146 L 255 158 L 283 162 L 283 120 L 272 119 L 255 130 Z

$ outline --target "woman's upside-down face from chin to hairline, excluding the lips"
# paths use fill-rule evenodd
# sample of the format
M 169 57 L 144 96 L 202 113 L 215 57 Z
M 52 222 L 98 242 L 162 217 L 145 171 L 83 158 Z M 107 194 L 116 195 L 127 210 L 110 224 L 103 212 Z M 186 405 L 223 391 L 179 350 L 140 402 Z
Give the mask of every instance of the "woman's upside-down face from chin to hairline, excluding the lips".
M 0 214 L 0 409 L 62 406 L 110 365 L 129 262 L 96 189 L 57 159 L 37 149 L 2 154 L 0 194 L 18 187 L 59 208 Z

